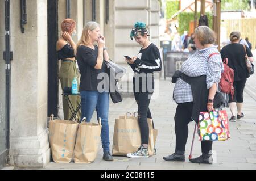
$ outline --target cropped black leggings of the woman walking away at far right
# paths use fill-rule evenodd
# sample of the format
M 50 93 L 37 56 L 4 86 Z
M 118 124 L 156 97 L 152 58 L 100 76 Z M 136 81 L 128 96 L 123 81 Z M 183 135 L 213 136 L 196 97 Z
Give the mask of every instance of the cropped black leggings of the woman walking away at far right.
M 229 94 L 229 103 L 236 102 L 242 103 L 243 102 L 243 89 L 245 89 L 246 79 L 242 79 L 241 81 L 234 81 L 234 96 L 232 100 L 231 94 Z

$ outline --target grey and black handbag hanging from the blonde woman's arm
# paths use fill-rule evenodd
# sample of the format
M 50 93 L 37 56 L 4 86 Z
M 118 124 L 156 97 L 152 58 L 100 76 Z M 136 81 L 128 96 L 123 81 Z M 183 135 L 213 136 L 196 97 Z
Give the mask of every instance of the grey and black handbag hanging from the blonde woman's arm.
M 126 73 L 126 69 L 112 61 L 105 62 L 106 72 L 109 75 L 109 95 L 113 103 L 119 103 L 123 100 L 121 87 L 118 80 Z M 117 77 L 118 74 L 118 77 Z

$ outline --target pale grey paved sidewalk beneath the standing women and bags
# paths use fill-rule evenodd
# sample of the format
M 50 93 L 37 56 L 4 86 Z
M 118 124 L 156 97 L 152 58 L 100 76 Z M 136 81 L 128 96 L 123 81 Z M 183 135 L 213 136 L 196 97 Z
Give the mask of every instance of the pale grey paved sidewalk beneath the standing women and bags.
M 255 81 L 256 76 L 251 76 L 246 83 L 246 90 L 244 92 L 244 106 L 243 113 L 245 117 L 236 122 L 229 122 L 231 138 L 224 142 L 213 142 L 213 150 L 216 151 L 216 161 L 213 165 L 190 163 L 188 156 L 191 148 L 193 129 L 195 123 L 189 124 L 189 137 L 187 141 L 185 162 L 166 162 L 163 161 L 163 156 L 174 153 L 175 150 L 175 132 L 174 132 L 174 115 L 176 110 L 176 103 L 172 101 L 172 91 L 174 84 L 170 79 L 159 81 L 159 96 L 157 99 L 152 99 L 150 103 L 150 110 L 154 119 L 155 128 L 158 129 L 158 138 L 156 140 L 156 155 L 147 159 L 132 159 L 123 158 L 127 161 L 106 162 L 102 159 L 102 148 L 96 160 L 90 164 L 76 164 L 71 163 L 54 163 L 51 162 L 44 169 L 256 169 L 256 96 L 255 96 Z M 252 84 L 252 83 L 253 84 Z M 109 109 L 109 128 L 110 128 L 110 149 L 112 149 L 114 120 L 120 115 L 124 115 L 127 111 L 135 112 L 138 107 L 134 98 L 124 98 L 123 102 L 113 104 L 110 100 Z M 227 109 L 230 117 L 230 111 Z M 96 113 L 93 115 L 92 121 L 96 121 Z M 195 158 L 201 154 L 200 141 L 196 134 L 195 145 L 193 148 L 192 157 Z

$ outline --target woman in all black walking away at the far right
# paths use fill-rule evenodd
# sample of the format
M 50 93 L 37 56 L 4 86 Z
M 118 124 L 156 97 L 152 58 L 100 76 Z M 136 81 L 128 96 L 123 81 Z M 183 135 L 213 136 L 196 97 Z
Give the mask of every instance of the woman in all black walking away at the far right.
M 243 89 L 245 88 L 246 79 L 249 77 L 245 55 L 247 53 L 249 60 L 253 62 L 253 54 L 247 46 L 240 44 L 240 32 L 232 32 L 229 37 L 231 44 L 223 47 L 220 53 L 222 60 L 228 58 L 228 66 L 234 70 L 234 96 L 232 98 L 229 94 L 229 107 L 232 113 L 229 120 L 236 121 L 236 119 L 241 119 L 245 116 L 242 113 Z

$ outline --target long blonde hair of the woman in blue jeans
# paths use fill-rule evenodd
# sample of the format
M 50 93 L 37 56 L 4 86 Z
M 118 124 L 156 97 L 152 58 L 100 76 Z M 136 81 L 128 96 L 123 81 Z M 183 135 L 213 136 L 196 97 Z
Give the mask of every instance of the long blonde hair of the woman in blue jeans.
M 79 48 L 80 45 L 87 46 L 89 44 L 88 31 L 89 30 L 93 31 L 97 27 L 100 27 L 100 24 L 98 24 L 97 22 L 87 22 L 85 24 L 84 29 L 82 30 L 82 36 L 81 36 L 80 40 L 78 41 L 78 43 L 76 45 L 76 51 L 77 51 L 77 48 Z M 75 53 L 76 53 L 76 51 L 75 51 Z

